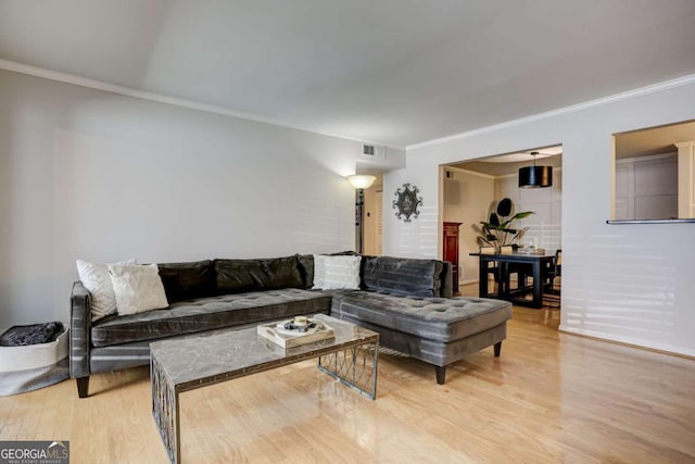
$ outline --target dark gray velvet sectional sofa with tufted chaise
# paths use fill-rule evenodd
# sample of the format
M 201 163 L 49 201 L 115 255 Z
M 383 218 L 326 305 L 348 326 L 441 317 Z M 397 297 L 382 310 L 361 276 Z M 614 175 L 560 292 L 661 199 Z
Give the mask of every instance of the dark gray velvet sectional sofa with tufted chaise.
M 494 346 L 500 355 L 511 304 L 452 298 L 451 263 L 363 256 L 359 290 L 313 290 L 313 255 L 159 264 L 169 305 L 94 323 L 90 294 L 78 280 L 71 296 L 70 371 L 80 398 L 91 374 L 149 363 L 153 340 L 242 328 L 325 313 L 372 329 L 382 346 L 431 363 L 443 384 L 446 366 Z

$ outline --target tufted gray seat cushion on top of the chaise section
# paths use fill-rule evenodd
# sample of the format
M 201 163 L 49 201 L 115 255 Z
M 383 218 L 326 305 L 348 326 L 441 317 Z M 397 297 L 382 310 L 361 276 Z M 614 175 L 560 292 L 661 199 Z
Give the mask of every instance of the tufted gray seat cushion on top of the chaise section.
M 345 291 L 333 293 L 331 315 L 450 342 L 488 330 L 511 318 L 511 303 L 468 297 L 410 298 L 369 291 Z

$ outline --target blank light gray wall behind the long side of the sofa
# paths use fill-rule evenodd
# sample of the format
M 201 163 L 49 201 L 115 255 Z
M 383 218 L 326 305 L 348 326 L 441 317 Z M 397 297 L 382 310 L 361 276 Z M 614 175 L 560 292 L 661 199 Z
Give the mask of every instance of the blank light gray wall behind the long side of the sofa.
M 77 258 L 354 249 L 359 142 L 8 71 L 0 102 L 0 327 L 66 322 Z

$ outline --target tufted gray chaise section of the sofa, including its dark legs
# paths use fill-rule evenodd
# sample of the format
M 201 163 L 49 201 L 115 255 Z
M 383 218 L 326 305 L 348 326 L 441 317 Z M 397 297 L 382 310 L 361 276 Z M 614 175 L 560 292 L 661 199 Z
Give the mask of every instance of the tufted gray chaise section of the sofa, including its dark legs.
M 467 354 L 494 346 L 500 356 L 511 303 L 349 291 L 333 294 L 331 316 L 375 330 L 382 346 L 434 364 L 442 385 L 446 367 Z

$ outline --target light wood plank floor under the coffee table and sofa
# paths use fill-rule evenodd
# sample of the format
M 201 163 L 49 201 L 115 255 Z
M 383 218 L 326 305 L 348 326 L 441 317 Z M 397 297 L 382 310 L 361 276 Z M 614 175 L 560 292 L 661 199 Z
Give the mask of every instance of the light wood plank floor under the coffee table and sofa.
M 557 331 L 515 308 L 447 371 L 382 354 L 377 401 L 305 362 L 181 396 L 184 462 L 695 462 L 695 361 Z M 148 368 L 0 398 L 0 440 L 70 440 L 72 463 L 165 463 Z

